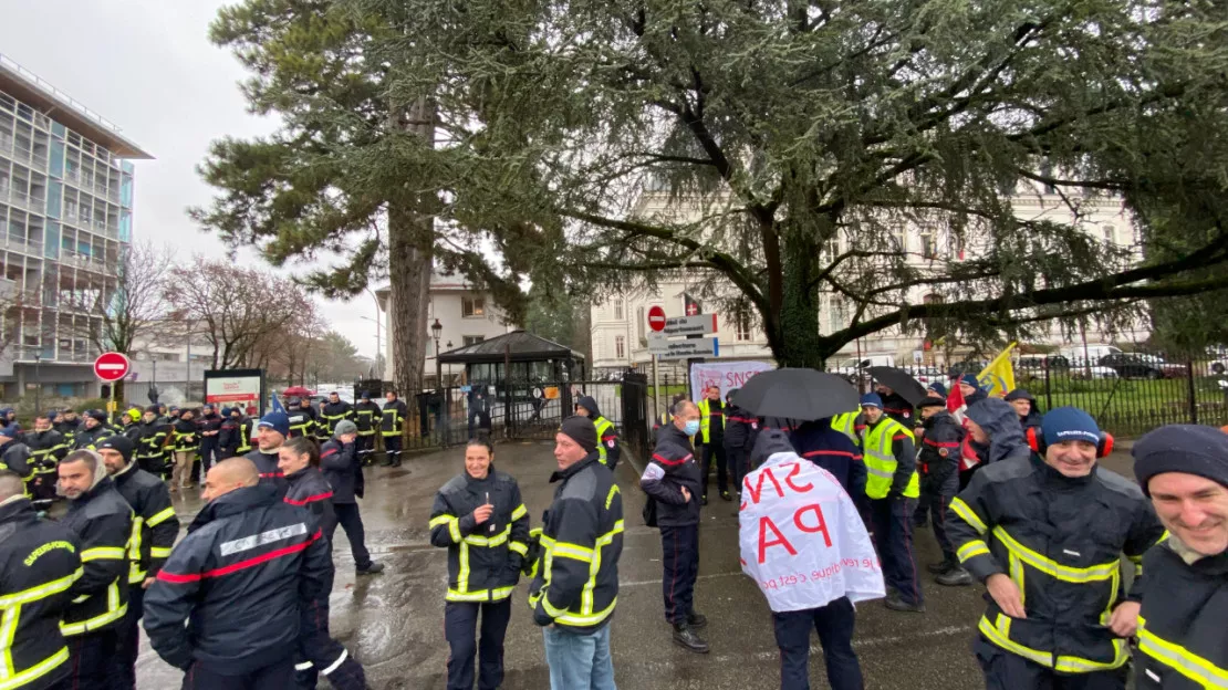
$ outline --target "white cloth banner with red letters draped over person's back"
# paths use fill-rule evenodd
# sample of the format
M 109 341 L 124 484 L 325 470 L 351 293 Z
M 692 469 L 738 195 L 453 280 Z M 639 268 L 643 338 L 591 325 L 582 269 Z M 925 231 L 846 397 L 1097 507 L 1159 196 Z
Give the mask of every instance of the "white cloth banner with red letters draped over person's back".
M 883 570 L 852 498 L 826 470 L 777 453 L 742 484 L 742 572 L 774 611 L 885 597 Z

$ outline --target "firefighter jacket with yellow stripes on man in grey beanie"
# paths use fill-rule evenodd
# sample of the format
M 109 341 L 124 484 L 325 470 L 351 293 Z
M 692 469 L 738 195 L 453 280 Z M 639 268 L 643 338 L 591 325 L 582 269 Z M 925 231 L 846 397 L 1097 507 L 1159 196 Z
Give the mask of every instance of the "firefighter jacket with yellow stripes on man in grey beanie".
M 133 508 L 111 478 L 69 502 L 64 527 L 81 540 L 85 573 L 72 586 L 72 605 L 64 614 L 65 636 L 117 627 L 128 613 L 128 543 Z

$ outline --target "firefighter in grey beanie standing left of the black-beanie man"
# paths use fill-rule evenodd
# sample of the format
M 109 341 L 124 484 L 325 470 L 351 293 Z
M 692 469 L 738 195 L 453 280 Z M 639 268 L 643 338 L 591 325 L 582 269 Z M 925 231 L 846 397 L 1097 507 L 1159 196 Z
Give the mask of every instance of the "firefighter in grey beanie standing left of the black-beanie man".
M 79 449 L 60 460 L 59 492 L 69 500 L 64 527 L 81 541 L 81 580 L 60 631 L 72 654 L 72 688 L 122 688 L 115 653 L 128 614 L 128 544 L 133 508 L 107 476 L 98 453 Z

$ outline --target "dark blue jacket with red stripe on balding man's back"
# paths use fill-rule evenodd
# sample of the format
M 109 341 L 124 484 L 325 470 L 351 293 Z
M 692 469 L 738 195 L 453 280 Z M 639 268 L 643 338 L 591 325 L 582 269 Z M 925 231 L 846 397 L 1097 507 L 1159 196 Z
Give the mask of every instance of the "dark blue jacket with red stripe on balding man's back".
M 201 508 L 158 571 L 145 593 L 145 632 L 176 668 L 251 673 L 327 625 L 332 571 L 309 512 L 268 484 L 237 489 Z

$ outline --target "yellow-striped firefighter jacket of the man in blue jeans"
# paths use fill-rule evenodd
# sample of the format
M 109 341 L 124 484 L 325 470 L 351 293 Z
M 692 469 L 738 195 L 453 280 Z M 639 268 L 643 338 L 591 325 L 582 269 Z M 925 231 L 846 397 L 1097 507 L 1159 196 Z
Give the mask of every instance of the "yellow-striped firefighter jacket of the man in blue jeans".
M 542 517 L 542 560 L 529 587 L 533 621 L 592 632 L 618 603 L 623 496 L 596 451 L 550 481 L 559 486 Z

